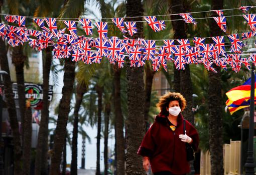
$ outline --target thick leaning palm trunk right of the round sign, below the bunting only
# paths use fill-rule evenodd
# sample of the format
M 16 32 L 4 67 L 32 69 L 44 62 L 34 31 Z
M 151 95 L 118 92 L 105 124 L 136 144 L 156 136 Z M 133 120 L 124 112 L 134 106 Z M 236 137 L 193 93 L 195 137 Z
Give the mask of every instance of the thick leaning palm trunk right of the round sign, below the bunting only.
M 73 91 L 73 84 L 75 79 L 75 62 L 71 58 L 65 59 L 64 65 L 64 86 L 62 88 L 62 98 L 59 105 L 59 115 L 57 120 L 57 127 L 55 130 L 53 155 L 50 166 L 50 175 L 56 175 L 60 171 L 61 152 L 63 150 L 68 114 L 70 111 L 70 98 Z

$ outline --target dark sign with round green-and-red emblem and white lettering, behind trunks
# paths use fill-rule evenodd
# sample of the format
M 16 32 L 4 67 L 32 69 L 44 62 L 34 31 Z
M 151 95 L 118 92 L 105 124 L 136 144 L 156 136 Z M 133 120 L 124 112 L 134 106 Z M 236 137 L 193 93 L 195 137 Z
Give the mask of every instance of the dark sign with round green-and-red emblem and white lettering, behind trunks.
M 17 83 L 13 84 L 14 99 L 18 99 Z M 30 100 L 31 107 L 37 107 L 43 100 L 43 85 L 25 83 L 25 97 Z M 49 85 L 48 101 L 52 101 L 53 86 Z

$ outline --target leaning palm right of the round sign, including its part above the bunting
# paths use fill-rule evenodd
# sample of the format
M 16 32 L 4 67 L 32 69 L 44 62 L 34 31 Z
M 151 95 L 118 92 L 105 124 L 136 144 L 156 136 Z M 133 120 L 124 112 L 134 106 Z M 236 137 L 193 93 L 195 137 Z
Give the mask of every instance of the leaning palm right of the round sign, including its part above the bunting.
M 84 1 L 68 0 L 65 2 L 63 11 L 61 12 L 61 18 L 78 18 L 84 9 Z M 59 165 L 61 159 L 61 152 L 64 146 L 65 135 L 63 130 L 66 129 L 68 114 L 70 111 L 70 99 L 73 91 L 73 84 L 75 79 L 75 62 L 71 58 L 65 59 L 64 64 L 64 86 L 62 88 L 62 99 L 59 105 L 59 115 L 57 120 L 57 127 L 55 130 L 53 156 L 50 166 L 50 174 L 55 175 L 59 173 Z

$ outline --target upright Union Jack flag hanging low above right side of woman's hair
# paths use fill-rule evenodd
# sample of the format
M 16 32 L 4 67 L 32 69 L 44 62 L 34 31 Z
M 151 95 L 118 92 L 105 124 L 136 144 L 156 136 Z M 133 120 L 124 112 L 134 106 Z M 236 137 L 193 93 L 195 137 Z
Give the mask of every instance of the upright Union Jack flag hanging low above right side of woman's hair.
M 176 52 L 174 54 L 174 65 L 176 69 L 184 70 L 186 66 L 185 52 L 180 45 L 175 46 L 175 48 Z

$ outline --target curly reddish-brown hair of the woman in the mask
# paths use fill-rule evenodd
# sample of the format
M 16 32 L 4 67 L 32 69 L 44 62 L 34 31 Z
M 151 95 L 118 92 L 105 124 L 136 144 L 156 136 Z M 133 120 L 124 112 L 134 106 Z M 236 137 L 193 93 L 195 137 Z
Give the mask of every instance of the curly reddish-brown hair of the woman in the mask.
M 169 103 L 171 101 L 175 101 L 177 100 L 179 102 L 181 111 L 183 111 L 186 108 L 186 100 L 183 97 L 183 95 L 181 95 L 178 92 L 168 92 L 165 95 L 163 95 L 162 97 L 160 97 L 160 100 L 157 104 L 157 107 L 160 108 L 161 110 L 161 114 L 163 115 L 169 115 L 169 112 L 166 110 L 166 108 L 169 108 Z

